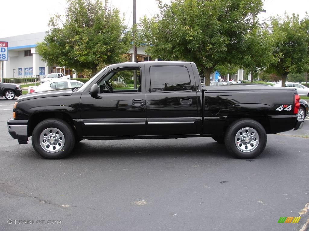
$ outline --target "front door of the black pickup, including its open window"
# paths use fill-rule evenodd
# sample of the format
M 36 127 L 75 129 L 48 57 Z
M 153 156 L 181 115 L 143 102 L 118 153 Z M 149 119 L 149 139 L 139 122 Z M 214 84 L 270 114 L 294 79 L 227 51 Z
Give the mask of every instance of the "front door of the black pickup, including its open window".
M 100 88 L 101 99 L 95 99 L 89 92 L 83 92 L 80 100 L 83 136 L 146 135 L 144 64 L 134 65 L 114 68 L 96 82 Z M 140 79 L 136 88 L 120 85 L 121 81 L 130 80 L 134 75 Z M 118 85 L 115 85 L 115 82 L 118 82 Z

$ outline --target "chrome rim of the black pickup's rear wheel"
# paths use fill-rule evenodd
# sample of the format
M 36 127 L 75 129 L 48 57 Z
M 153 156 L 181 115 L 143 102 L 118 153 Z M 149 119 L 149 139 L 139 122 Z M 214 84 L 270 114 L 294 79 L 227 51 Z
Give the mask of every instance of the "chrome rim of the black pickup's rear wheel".
M 242 152 L 252 152 L 259 145 L 259 134 L 253 128 L 242 128 L 235 136 L 236 147 Z

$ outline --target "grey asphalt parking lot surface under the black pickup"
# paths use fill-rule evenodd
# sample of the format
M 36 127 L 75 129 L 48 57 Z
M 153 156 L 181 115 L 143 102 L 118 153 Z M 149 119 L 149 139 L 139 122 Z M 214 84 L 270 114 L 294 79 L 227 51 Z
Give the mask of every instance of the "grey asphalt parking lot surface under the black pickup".
M 308 230 L 308 117 L 254 160 L 211 138 L 83 140 L 44 160 L 7 132 L 14 102 L 0 98 L 0 230 Z

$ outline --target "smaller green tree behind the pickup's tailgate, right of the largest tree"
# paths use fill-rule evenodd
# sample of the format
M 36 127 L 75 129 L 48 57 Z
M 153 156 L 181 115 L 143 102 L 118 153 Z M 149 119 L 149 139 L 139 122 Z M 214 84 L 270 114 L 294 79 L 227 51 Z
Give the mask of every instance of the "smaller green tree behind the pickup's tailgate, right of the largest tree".
M 285 87 L 289 73 L 304 71 L 308 54 L 307 34 L 295 14 L 292 17 L 285 15 L 283 19 L 272 18 L 270 30 L 274 42 L 274 59 L 266 71 L 280 76 L 282 87 Z

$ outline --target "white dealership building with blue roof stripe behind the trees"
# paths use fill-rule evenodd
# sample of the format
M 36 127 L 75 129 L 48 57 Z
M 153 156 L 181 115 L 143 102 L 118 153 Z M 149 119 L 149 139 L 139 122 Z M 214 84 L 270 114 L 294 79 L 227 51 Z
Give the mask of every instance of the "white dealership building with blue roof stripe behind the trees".
M 71 75 L 76 78 L 81 73 L 73 73 L 69 67 L 49 67 L 36 53 L 36 44 L 43 41 L 46 32 L 23 34 L 12 37 L 0 38 L 0 41 L 8 42 L 8 60 L 2 61 L 0 75 L 3 78 L 35 77 L 37 75 L 48 75 L 49 73 L 62 72 L 64 75 Z M 137 48 L 137 61 L 155 61 L 151 56 L 146 55 L 146 47 Z M 132 61 L 133 48 L 128 53 L 128 61 Z M 213 73 L 212 79 L 219 79 L 218 73 Z M 78 77 L 77 77 L 78 78 Z M 222 78 L 222 77 L 221 77 Z M 243 70 L 225 76 L 225 79 L 243 79 Z M 201 82 L 205 79 L 201 78 Z

